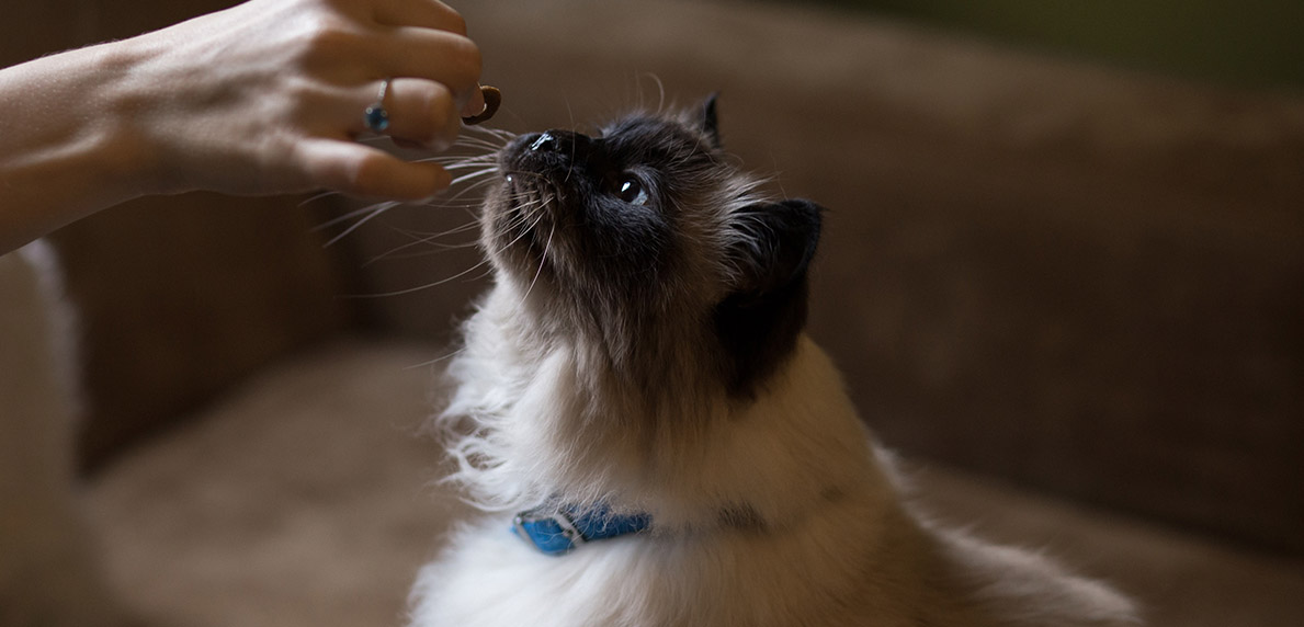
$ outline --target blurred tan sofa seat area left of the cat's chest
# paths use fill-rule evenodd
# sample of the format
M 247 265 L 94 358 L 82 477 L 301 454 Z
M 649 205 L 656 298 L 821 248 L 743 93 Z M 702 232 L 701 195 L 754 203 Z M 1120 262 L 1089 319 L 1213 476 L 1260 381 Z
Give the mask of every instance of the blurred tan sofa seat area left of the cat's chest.
M 462 504 L 416 435 L 425 345 L 344 345 L 263 372 L 106 468 L 108 570 L 150 624 L 399 624 Z

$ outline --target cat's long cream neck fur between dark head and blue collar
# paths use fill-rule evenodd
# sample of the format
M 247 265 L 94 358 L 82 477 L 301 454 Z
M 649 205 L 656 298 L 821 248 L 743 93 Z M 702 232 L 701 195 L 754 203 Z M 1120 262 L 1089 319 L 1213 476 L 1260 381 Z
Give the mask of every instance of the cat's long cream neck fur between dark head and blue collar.
M 682 420 L 604 394 L 582 347 L 523 327 L 519 302 L 494 289 L 450 366 L 458 388 L 445 417 L 471 422 L 450 446 L 454 478 L 481 507 L 608 503 L 673 532 L 719 527 L 721 512 L 785 525 L 831 494 L 891 499 L 841 377 L 805 336 L 760 399 L 695 399 L 705 407 Z

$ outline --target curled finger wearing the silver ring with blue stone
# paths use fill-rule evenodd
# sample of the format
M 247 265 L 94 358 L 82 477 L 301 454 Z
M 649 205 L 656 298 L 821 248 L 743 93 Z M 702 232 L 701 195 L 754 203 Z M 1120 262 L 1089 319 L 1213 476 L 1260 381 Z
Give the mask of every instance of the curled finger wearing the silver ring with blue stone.
M 361 87 L 357 102 L 365 102 L 365 94 L 376 90 L 374 86 Z M 373 94 L 372 99 L 374 98 Z M 390 137 L 430 150 L 443 150 L 458 138 L 462 115 L 452 93 L 443 83 L 422 78 L 395 78 L 390 81 L 383 104 L 390 121 L 385 134 Z M 361 116 L 355 115 L 349 130 L 361 133 L 365 128 Z

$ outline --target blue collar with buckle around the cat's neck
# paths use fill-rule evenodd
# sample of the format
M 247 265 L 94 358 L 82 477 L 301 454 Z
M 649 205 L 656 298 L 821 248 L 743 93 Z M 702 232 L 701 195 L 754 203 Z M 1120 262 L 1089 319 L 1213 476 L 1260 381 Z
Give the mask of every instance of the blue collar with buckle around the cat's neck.
M 652 525 L 647 514 L 614 515 L 604 504 L 545 504 L 523 511 L 512 521 L 512 531 L 546 555 L 565 555 L 584 542 L 639 533 Z

